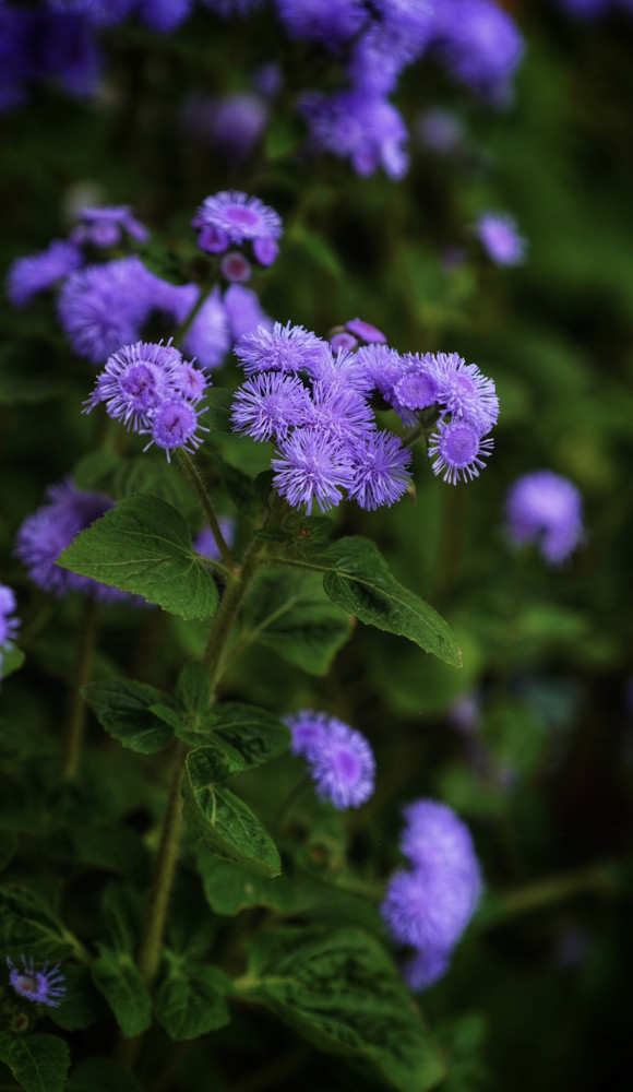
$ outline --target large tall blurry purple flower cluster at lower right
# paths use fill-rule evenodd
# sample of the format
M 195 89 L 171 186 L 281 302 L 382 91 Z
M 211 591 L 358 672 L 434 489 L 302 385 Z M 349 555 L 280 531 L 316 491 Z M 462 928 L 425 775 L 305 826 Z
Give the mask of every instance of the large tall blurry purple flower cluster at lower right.
M 404 810 L 401 848 L 410 868 L 391 878 L 381 914 L 394 938 L 416 949 L 405 966 L 411 989 L 442 977 L 481 892 L 481 871 L 465 823 L 445 804 L 420 799 Z

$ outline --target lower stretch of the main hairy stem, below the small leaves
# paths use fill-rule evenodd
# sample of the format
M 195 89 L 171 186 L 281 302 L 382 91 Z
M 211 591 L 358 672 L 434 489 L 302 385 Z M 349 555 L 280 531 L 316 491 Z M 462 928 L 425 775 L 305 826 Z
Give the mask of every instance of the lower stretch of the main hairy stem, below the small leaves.
M 182 795 L 180 793 L 180 783 L 182 781 L 187 746 L 178 741 L 174 748 L 171 784 L 169 786 L 167 810 L 165 812 L 160 845 L 154 868 L 154 882 L 150 897 L 150 905 L 145 914 L 143 942 L 139 952 L 139 970 L 148 989 L 154 984 L 158 963 L 160 962 L 160 948 L 167 923 L 167 907 L 176 875 L 176 858 L 182 833 Z

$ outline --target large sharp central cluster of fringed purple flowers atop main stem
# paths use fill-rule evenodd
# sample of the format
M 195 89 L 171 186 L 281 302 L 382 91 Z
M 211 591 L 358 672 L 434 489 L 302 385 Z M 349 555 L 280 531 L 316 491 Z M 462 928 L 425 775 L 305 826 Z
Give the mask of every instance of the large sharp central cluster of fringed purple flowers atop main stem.
M 277 322 L 247 334 L 235 349 L 250 378 L 235 396 L 234 429 L 275 441 L 274 484 L 288 503 L 306 505 L 310 514 L 315 502 L 326 512 L 346 495 L 373 510 L 406 492 L 410 451 L 378 428 L 374 392 L 420 436 L 432 432 L 435 474 L 444 472 L 453 484 L 476 477 L 499 415 L 493 381 L 455 353 L 401 356 L 359 319 L 346 333 L 370 344 L 334 352 L 302 327 Z

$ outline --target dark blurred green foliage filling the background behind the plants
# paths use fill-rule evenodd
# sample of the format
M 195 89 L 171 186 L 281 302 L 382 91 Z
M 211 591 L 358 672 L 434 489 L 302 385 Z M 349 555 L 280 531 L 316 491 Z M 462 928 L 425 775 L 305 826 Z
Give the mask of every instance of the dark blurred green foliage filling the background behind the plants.
M 469 822 L 487 893 L 450 974 L 422 999 L 452 1059 L 446 1092 L 616 1092 L 633 1076 L 633 25 L 617 14 L 573 23 L 546 0 L 512 9 L 527 50 L 507 109 L 470 98 L 431 62 L 406 73 L 396 102 L 411 129 L 411 166 L 399 183 L 302 152 L 289 104 L 314 59 L 300 46 L 284 46 L 285 84 L 247 162 L 229 165 L 188 131 L 193 93 L 248 90 L 259 66 L 280 59 L 265 14 L 238 24 L 198 12 L 165 37 L 117 27 L 96 100 L 45 87 L 2 119 L 0 261 L 7 268 L 64 235 L 73 210 L 91 201 L 131 204 L 155 240 L 191 249 L 195 207 L 235 187 L 284 217 L 280 258 L 254 282 L 275 319 L 325 334 L 360 314 L 401 351 L 456 351 L 494 378 L 501 416 L 479 479 L 451 488 L 418 455 L 415 502 L 336 517 L 339 533 L 379 542 L 396 577 L 447 618 L 463 669 L 358 626 L 327 676 L 256 646 L 236 661 L 225 695 L 280 714 L 324 708 L 370 737 L 377 794 L 351 818 L 355 864 L 368 881 L 398 863 L 404 802 L 432 795 Z M 464 127 L 450 154 L 417 135 L 421 112 L 437 106 Z M 516 216 L 529 244 L 523 268 L 497 269 L 480 251 L 470 225 L 489 207 Z M 0 353 L 2 580 L 20 593 L 27 653 L 2 700 L 11 696 L 25 724 L 47 727 L 63 715 L 80 606 L 44 603 L 12 543 L 44 489 L 85 468 L 98 424 L 80 411 L 93 372 L 64 345 L 45 300 L 4 309 Z M 231 389 L 237 378 L 227 360 L 214 382 Z M 218 446 L 249 473 L 267 465 L 265 446 L 230 436 Z M 128 454 L 139 454 L 133 440 Z M 144 460 L 130 463 L 115 495 L 160 489 L 194 520 L 160 456 Z M 570 477 L 585 501 L 586 539 L 560 570 L 519 555 L 503 531 L 509 485 L 539 467 Z M 228 502 L 226 512 L 239 514 Z M 248 527 L 239 520 L 238 541 Z M 101 625 L 97 677 L 166 686 L 203 640 L 195 624 L 156 612 L 111 607 Z M 92 732 L 107 781 L 117 748 L 95 724 Z M 120 812 L 126 791 L 141 811 L 155 809 L 133 768 L 108 790 L 121 799 L 104 815 Z M 258 793 L 253 781 L 265 822 L 270 803 Z M 303 820 L 309 804 L 297 808 Z M 331 846 L 336 836 L 327 838 Z M 132 844 L 130 854 L 130 869 L 142 873 Z M 335 921 L 337 904 L 313 913 Z M 349 921 L 349 906 L 341 915 Z M 264 1071 L 282 1052 L 280 1092 L 298 1079 L 306 1089 L 358 1087 L 299 1041 L 288 1055 L 288 1042 L 284 1029 L 242 1012 L 215 1076 L 195 1046 L 182 1088 L 201 1087 L 202 1063 L 204 1087 L 223 1088 L 236 1052 Z M 244 1080 L 235 1090 L 259 1087 Z

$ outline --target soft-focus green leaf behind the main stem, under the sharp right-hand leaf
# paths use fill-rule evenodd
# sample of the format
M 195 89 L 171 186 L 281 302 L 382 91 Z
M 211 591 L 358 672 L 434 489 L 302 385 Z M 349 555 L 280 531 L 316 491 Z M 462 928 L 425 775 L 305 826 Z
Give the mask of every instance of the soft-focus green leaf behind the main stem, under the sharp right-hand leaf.
M 246 636 L 311 675 L 326 675 L 350 621 L 323 592 L 316 572 L 267 569 L 249 592 Z

